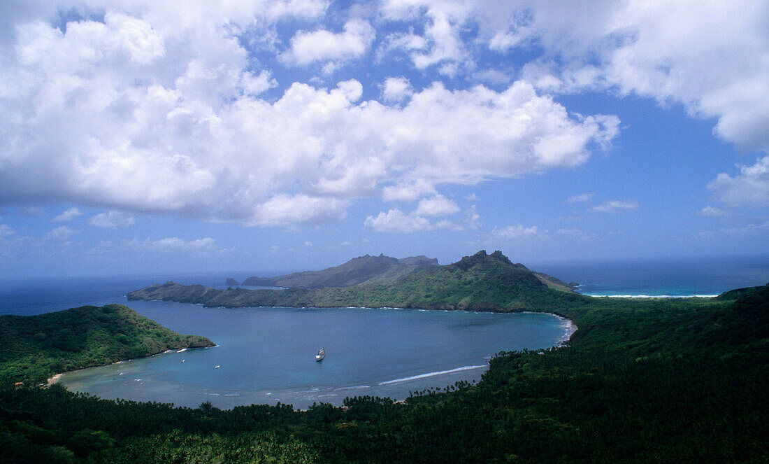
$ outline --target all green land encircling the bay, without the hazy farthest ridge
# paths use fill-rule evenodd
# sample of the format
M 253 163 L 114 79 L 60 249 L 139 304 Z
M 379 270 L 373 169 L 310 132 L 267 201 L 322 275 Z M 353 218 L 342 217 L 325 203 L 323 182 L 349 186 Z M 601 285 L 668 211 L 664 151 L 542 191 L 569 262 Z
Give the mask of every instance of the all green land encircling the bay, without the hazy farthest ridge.
M 769 284 L 713 299 L 591 298 L 543 282 L 501 253 L 479 252 L 386 284 L 250 291 L 169 283 L 135 297 L 528 309 L 564 315 L 578 331 L 564 346 L 498 353 L 478 383 L 413 392 L 400 402 L 357 396 L 306 411 L 280 403 L 221 410 L 15 386 L 19 376 L 84 366 L 102 345 L 109 349 L 99 362 L 210 341 L 165 332 L 119 305 L 4 316 L 0 334 L 11 346 L 0 358 L 5 460 L 613 464 L 769 456 Z M 82 333 L 86 342 L 78 345 Z M 38 356 L 42 365 L 29 370 Z

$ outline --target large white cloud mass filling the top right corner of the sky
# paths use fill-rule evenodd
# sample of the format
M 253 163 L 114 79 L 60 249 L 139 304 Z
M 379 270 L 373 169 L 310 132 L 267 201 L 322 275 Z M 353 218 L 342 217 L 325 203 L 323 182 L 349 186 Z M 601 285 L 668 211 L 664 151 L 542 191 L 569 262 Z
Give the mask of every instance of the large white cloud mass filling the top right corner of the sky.
M 769 151 L 764 0 L 389 0 L 381 11 L 424 28 L 424 37 L 395 33 L 387 44 L 410 53 L 418 68 L 456 64 L 473 45 L 541 51 L 518 78 L 548 92 L 611 89 L 681 103 L 691 115 L 716 118 L 721 138 Z M 473 29 L 477 37 L 462 43 L 461 32 Z

